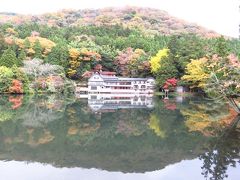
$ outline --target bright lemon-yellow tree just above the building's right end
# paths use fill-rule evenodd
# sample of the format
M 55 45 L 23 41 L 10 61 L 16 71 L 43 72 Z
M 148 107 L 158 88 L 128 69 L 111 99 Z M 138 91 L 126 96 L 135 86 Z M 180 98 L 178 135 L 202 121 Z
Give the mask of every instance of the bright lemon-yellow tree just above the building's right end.
M 169 49 L 164 48 L 159 50 L 158 53 L 150 59 L 151 71 L 156 73 L 160 68 L 160 62 L 163 58 L 168 57 Z

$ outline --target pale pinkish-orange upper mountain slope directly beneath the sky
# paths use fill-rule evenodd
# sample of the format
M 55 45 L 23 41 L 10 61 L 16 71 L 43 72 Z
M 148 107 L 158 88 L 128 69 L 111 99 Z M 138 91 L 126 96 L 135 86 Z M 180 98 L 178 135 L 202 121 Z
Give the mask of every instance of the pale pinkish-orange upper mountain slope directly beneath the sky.
M 127 28 L 139 28 L 146 34 L 194 33 L 204 37 L 219 36 L 194 23 L 170 16 L 167 12 L 152 8 L 124 7 L 85 10 L 62 10 L 42 15 L 16 15 L 0 13 L 0 23 L 22 24 L 36 22 L 49 26 L 110 26 L 122 25 Z

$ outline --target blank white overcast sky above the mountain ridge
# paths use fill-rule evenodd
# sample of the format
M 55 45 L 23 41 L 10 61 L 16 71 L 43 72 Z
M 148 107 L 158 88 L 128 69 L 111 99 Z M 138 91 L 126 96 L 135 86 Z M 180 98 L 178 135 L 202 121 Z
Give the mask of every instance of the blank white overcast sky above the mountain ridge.
M 60 9 L 153 7 L 221 34 L 238 37 L 240 0 L 0 0 L 0 12 L 40 14 Z

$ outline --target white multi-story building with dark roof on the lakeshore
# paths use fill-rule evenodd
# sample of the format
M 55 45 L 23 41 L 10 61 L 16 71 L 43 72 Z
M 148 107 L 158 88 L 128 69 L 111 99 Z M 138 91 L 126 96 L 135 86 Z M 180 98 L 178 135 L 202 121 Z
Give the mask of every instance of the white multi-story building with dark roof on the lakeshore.
M 152 94 L 154 86 L 153 78 L 123 78 L 95 73 L 88 80 L 88 93 Z

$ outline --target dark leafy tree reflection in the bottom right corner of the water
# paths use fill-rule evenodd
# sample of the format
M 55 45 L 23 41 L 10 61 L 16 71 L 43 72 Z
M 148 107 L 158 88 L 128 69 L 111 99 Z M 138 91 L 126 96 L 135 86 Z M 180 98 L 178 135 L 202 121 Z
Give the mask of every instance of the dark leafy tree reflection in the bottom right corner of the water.
M 240 117 L 234 119 L 233 123 L 240 120 Z M 203 160 L 202 174 L 210 180 L 223 180 L 228 175 L 226 171 L 229 166 L 236 167 L 240 164 L 240 133 L 233 127 L 222 131 L 217 139 L 213 139 L 206 149 L 206 153 L 199 156 Z

